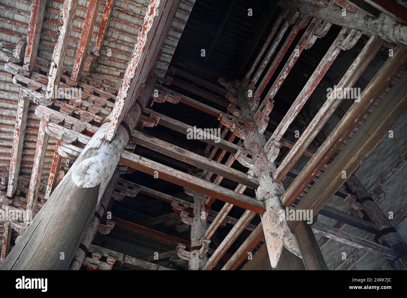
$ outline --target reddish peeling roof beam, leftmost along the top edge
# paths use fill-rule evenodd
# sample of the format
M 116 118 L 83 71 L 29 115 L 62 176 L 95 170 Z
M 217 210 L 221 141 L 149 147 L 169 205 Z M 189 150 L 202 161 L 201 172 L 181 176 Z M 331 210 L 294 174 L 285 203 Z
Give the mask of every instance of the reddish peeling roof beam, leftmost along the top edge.
M 30 21 L 28 22 L 26 52 L 24 55 L 23 69 L 25 71 L 31 72 L 35 66 L 35 58 L 37 57 L 45 6 L 46 1 L 33 0 Z

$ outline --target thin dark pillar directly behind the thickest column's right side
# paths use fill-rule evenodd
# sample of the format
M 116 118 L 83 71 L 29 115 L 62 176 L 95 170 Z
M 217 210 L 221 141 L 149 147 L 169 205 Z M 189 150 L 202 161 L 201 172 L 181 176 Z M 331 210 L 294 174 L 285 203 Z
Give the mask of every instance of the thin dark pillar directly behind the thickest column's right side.
M 86 252 L 84 249 L 88 250 L 90 244 L 92 243 L 93 239 L 95 238 L 98 226 L 100 224 L 100 219 L 102 218 L 103 214 L 107 211 L 107 207 L 109 206 L 109 202 L 112 199 L 112 194 L 114 189 L 116 188 L 117 182 L 119 180 L 120 171 L 116 169 L 116 172 L 113 174 L 112 179 L 110 179 L 109 185 L 107 186 L 105 193 L 103 194 L 103 198 L 101 200 L 100 205 L 98 206 L 97 215 L 93 216 L 88 229 L 86 230 L 85 235 L 83 236 L 81 245 L 77 249 L 74 259 L 69 267 L 69 270 L 79 270 L 81 269 L 83 260 L 86 257 Z

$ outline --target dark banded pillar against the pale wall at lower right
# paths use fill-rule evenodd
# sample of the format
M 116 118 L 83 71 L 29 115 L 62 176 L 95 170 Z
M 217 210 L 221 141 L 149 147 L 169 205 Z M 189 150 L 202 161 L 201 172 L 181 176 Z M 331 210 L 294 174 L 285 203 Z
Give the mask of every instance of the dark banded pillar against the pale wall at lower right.
M 395 260 L 389 259 L 392 268 L 394 270 L 407 270 L 407 246 L 403 238 L 400 237 L 385 214 L 383 214 L 383 211 L 376 205 L 355 175 L 350 175 L 346 185 L 356 194 L 359 203 L 363 206 L 363 210 L 378 227 L 379 233 L 376 234 L 376 242 L 379 241 L 379 238 L 383 237 L 386 242 L 385 245 L 387 244 L 387 246 L 390 246 L 396 252 L 398 258 Z M 382 236 L 380 237 L 380 235 Z

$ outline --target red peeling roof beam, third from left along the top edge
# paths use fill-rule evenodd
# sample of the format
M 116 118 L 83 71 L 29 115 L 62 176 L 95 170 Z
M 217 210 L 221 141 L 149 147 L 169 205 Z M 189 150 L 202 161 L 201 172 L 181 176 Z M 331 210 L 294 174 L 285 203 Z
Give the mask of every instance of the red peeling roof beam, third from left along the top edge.
M 96 17 L 98 16 L 99 5 L 100 0 L 89 1 L 85 22 L 83 23 L 83 28 L 81 32 L 81 39 L 79 40 L 78 50 L 76 52 L 75 63 L 72 68 L 71 80 L 74 82 L 78 82 L 79 79 L 81 78 L 83 64 L 85 63 L 86 54 L 88 52 L 90 37 L 92 37 Z

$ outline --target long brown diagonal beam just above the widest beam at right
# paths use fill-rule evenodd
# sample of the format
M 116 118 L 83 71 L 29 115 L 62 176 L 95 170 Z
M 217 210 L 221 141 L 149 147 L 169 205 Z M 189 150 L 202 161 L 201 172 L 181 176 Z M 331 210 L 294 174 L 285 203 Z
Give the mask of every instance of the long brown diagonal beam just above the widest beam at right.
M 338 125 L 334 128 L 333 132 L 326 138 L 324 143 L 319 147 L 317 152 L 313 155 L 311 160 L 304 166 L 300 174 L 294 179 L 294 181 L 291 183 L 291 185 L 287 188 L 287 190 L 284 192 L 282 195 L 281 201 L 284 206 L 289 206 L 291 205 L 295 199 L 297 199 L 302 191 L 308 186 L 310 183 L 311 179 L 315 177 L 315 175 L 318 173 L 318 171 L 326 164 L 326 161 L 329 160 L 329 158 L 335 153 L 337 148 L 344 142 L 346 137 L 352 132 L 354 127 L 357 125 L 357 123 L 362 119 L 362 117 L 368 112 L 370 107 L 374 104 L 374 101 L 376 101 L 377 98 L 385 91 L 389 83 L 392 81 L 392 79 L 396 76 L 398 71 L 401 69 L 402 65 L 404 65 L 407 61 L 407 47 L 404 46 L 398 46 L 395 51 L 394 51 L 394 56 L 387 58 L 386 62 L 382 65 L 382 67 L 379 69 L 379 71 L 376 73 L 374 78 L 369 82 L 368 86 L 363 90 L 363 93 L 361 94 L 359 101 L 354 102 L 352 104 L 351 108 L 348 110 L 348 112 L 345 114 L 345 116 L 339 121 Z M 383 106 L 383 105 L 382 105 Z M 383 108 L 383 107 L 382 107 Z M 387 110 L 387 113 L 390 113 L 391 110 Z M 377 127 L 379 123 L 376 123 L 373 127 Z M 362 134 L 363 130 L 359 132 L 359 135 Z M 352 138 L 354 139 L 354 138 Z M 372 139 L 373 140 L 373 139 Z M 363 144 L 364 148 L 367 148 L 365 143 Z M 346 146 L 348 149 L 350 149 L 350 146 Z M 348 150 L 347 149 L 347 150 Z M 355 147 L 355 150 L 356 147 Z M 358 151 L 362 153 L 362 151 Z M 370 152 L 369 152 L 370 153 Z M 339 153 L 341 154 L 341 153 Z M 344 156 L 345 153 L 343 153 L 341 156 Z M 349 158 L 349 157 L 348 157 Z M 346 159 L 348 159 L 346 158 Z M 353 155 L 352 155 L 353 158 Z M 362 157 L 363 158 L 363 157 Z M 335 158 L 337 160 L 337 158 Z M 354 160 L 354 159 L 353 159 Z M 335 164 L 338 166 L 341 166 L 339 163 L 341 161 L 337 160 Z M 330 168 L 329 171 L 333 171 L 333 163 L 328 166 L 326 171 Z M 348 165 L 348 172 L 353 173 L 353 171 L 356 169 L 354 168 L 353 171 L 351 168 L 349 168 L 350 165 Z M 352 164 L 354 166 L 354 164 Z M 326 171 L 323 174 L 326 175 Z M 328 171 L 328 172 L 329 172 Z M 337 175 L 336 173 L 334 176 Z M 339 174 L 338 174 L 339 175 Z M 348 173 L 350 175 L 350 173 Z M 335 179 L 340 180 L 341 176 L 336 176 Z M 332 177 L 334 178 L 334 177 Z M 318 181 L 321 179 L 318 179 Z M 340 184 L 340 181 L 337 181 L 337 183 Z M 321 182 L 318 183 L 319 186 L 321 186 Z M 330 181 L 330 185 L 332 185 L 333 181 Z M 343 184 L 342 180 L 342 184 Z M 340 185 L 342 185 L 340 184 Z M 307 199 L 311 197 L 311 194 L 313 193 L 314 195 L 319 196 L 319 194 L 316 194 L 314 191 L 317 189 L 315 185 L 311 188 L 311 192 L 309 193 Z M 324 190 L 326 190 L 326 184 L 323 186 Z M 336 186 L 334 186 L 335 188 Z M 314 188 L 314 190 L 312 190 Z M 339 188 L 339 187 L 338 187 Z M 335 191 L 338 189 L 335 188 Z M 324 192 L 324 197 L 327 198 L 329 192 Z M 313 197 L 311 201 L 316 199 L 316 197 Z M 322 202 L 321 202 L 322 203 Z M 301 204 L 301 203 L 300 203 Z M 301 204 L 301 207 L 304 207 L 304 203 Z M 321 207 L 324 205 L 319 205 L 318 208 L 312 208 L 314 209 L 315 214 L 317 213 L 316 211 L 319 211 Z M 310 205 L 308 207 L 311 207 Z M 309 209 L 309 208 L 306 208 Z

